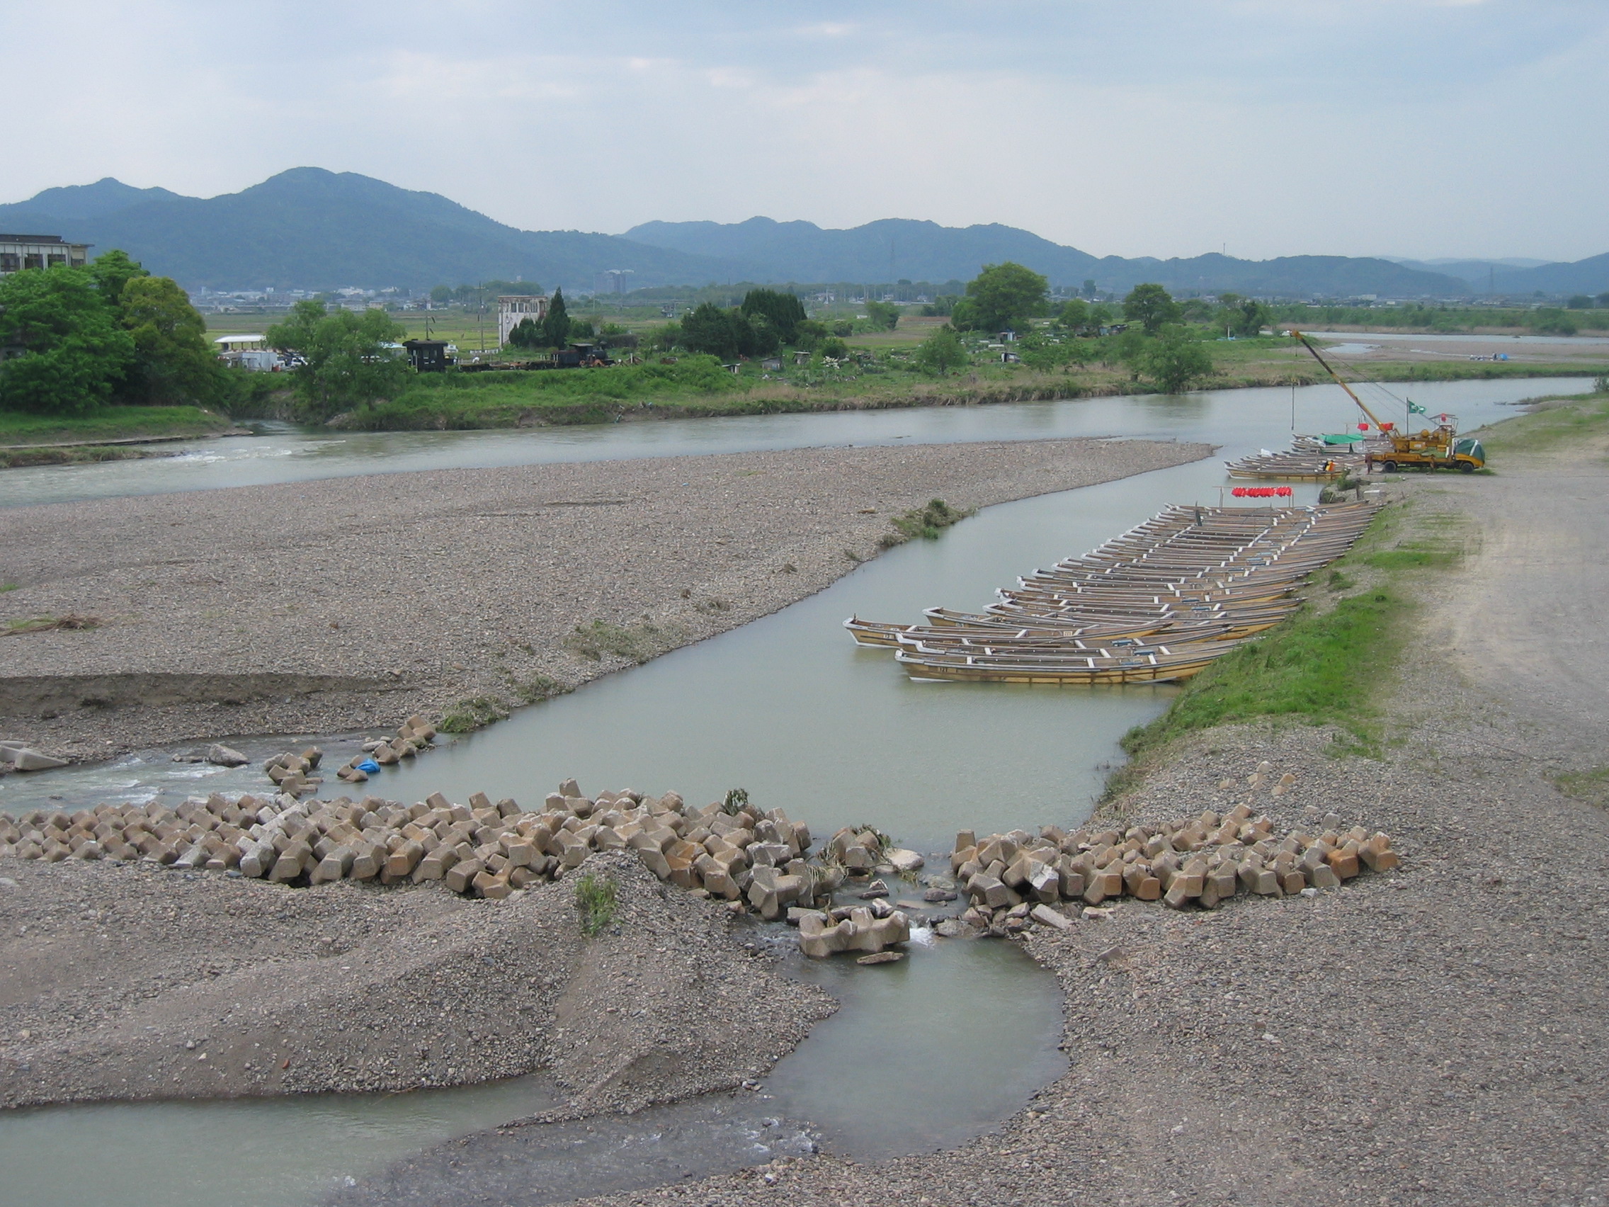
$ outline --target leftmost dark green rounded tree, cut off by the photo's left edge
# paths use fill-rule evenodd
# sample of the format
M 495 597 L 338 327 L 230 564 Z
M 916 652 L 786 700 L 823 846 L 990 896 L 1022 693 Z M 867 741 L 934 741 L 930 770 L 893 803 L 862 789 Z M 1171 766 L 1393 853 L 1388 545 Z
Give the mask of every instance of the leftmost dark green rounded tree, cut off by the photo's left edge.
M 72 415 L 111 399 L 134 340 L 88 269 L 58 264 L 0 277 L 0 409 Z

